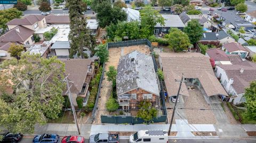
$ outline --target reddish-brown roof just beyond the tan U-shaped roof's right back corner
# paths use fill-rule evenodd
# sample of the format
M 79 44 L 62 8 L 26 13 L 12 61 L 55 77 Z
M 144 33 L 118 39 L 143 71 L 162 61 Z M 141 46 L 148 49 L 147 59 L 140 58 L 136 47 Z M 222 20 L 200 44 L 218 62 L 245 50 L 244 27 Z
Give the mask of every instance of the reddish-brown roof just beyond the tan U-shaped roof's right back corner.
M 217 48 L 207 49 L 206 53 L 214 61 L 230 61 L 228 58 L 228 55 L 221 49 L 217 49 Z

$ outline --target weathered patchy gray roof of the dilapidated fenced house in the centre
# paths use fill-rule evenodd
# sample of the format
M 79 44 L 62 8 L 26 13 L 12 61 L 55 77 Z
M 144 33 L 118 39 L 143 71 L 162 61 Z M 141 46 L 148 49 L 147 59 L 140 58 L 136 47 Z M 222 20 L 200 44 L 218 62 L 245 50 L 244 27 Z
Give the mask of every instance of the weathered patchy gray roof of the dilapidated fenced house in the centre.
M 117 95 L 140 88 L 159 96 L 152 57 L 133 51 L 120 58 L 116 77 Z

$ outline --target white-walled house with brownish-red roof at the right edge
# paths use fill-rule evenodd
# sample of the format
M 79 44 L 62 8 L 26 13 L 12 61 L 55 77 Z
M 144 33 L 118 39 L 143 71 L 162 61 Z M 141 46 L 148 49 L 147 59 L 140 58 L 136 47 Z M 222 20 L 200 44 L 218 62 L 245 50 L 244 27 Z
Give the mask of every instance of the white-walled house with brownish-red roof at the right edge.
M 239 104 L 245 102 L 245 88 L 256 80 L 256 63 L 243 61 L 237 55 L 229 55 L 232 64 L 216 65 L 215 75 L 221 85 L 231 95 L 229 102 Z

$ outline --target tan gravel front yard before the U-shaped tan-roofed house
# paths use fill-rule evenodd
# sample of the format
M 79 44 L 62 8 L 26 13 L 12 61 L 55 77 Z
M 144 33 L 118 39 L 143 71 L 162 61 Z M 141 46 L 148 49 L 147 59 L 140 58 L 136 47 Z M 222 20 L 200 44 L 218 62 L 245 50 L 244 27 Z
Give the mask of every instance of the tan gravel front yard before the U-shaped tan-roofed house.
M 184 98 L 184 107 L 190 108 L 211 108 L 203 97 L 201 91 L 197 88 L 189 90 L 189 96 Z M 188 123 L 190 124 L 215 124 L 215 116 L 211 110 L 185 110 Z

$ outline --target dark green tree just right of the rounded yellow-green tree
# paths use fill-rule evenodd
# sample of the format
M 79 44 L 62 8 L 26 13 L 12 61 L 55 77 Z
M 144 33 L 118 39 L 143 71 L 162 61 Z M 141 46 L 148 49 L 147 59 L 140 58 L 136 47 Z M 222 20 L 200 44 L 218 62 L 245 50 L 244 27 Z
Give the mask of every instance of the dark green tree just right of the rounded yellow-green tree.
M 204 32 L 201 24 L 195 19 L 189 21 L 183 31 L 188 35 L 191 44 L 197 43 L 202 38 Z

